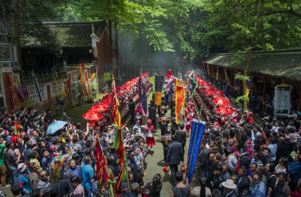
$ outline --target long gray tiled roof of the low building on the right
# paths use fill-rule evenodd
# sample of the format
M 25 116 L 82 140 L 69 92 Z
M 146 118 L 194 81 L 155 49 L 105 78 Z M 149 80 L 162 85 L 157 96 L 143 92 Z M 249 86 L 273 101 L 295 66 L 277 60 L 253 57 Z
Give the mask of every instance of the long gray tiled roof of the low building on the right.
M 240 63 L 234 63 L 234 53 L 212 54 L 202 61 L 243 72 L 247 66 L 247 54 Z M 301 82 L 301 48 L 273 51 L 254 51 L 251 53 L 249 72 L 266 75 L 272 78 L 285 79 L 290 82 Z

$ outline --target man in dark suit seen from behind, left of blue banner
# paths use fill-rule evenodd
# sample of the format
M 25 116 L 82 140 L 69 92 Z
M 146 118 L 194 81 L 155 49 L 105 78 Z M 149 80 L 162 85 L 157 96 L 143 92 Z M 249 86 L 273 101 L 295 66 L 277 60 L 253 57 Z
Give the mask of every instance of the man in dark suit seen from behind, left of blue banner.
M 180 164 L 180 161 L 184 161 L 184 152 L 182 149 L 182 144 L 176 141 L 177 137 L 172 135 L 171 139 L 172 143 L 168 145 L 166 163 L 169 163 L 173 186 L 175 186 L 177 184 L 177 181 L 175 180 L 175 172 L 178 171 L 178 165 Z

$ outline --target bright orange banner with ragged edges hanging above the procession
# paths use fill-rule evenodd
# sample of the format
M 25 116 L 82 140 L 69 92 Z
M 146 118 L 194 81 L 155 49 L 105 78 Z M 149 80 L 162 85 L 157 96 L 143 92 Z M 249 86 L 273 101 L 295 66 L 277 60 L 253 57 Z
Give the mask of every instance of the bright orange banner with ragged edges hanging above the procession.
M 180 124 L 180 111 L 184 101 L 184 87 L 182 86 L 182 81 L 175 79 L 175 119 L 176 123 Z

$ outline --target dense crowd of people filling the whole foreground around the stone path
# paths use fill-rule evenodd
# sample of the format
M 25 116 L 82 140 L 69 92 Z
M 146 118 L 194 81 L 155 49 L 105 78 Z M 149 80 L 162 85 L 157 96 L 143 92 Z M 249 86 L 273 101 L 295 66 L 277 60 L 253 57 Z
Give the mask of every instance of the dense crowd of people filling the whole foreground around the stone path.
M 216 113 L 216 119 L 213 123 L 207 123 L 203 132 L 195 170 L 199 186 L 192 188 L 186 184 L 185 170 L 182 167 L 179 170 L 178 165 L 184 164 L 191 120 L 195 118 L 198 109 L 194 100 L 186 103 L 181 123 L 176 124 L 175 102 L 168 98 L 171 95 L 163 94 L 160 106 L 155 105 L 153 95 L 147 121 L 143 122 L 140 106 L 136 106 L 137 103 L 132 100 L 137 93 L 134 88 L 136 85 L 132 87 L 132 92 L 126 94 L 128 102 L 126 98 L 120 98 L 120 110 L 129 104 L 129 125 L 134 125 L 132 129 L 129 126 L 121 129 L 129 183 L 123 180 L 120 188 L 114 187 L 120 189 L 120 196 L 138 197 L 141 193 L 142 196 L 160 197 L 162 175 L 146 173 L 147 165 L 154 165 L 150 162 L 148 164 L 149 155 L 162 157 L 166 163 L 163 171 L 171 172 L 172 187 L 164 189 L 169 189 L 172 197 L 301 195 L 299 122 L 290 121 L 286 125 L 268 118 L 255 123 L 252 112 L 239 112 L 233 107 L 232 114 Z M 216 104 L 206 96 L 205 88 L 199 83 L 196 91 L 215 113 Z M 167 115 L 169 110 L 170 115 Z M 121 171 L 117 149 L 113 148 L 116 125 L 111 125 L 110 109 L 105 113 L 105 124 L 90 122 L 88 129 L 86 125 L 73 124 L 64 114 L 62 120 L 67 124 L 49 134 L 49 125 L 56 121 L 51 109 L 42 114 L 24 107 L 13 114 L 1 112 L 1 188 L 10 187 L 15 197 L 112 196 L 108 183 L 98 182 L 95 168 L 96 143 L 99 142 L 109 172 L 118 179 Z M 162 145 L 156 144 L 154 138 L 157 129 L 161 132 Z M 163 155 L 155 153 L 154 146 L 162 146 Z M 60 170 L 51 166 L 58 166 Z M 57 172 L 58 180 L 51 176 Z M 145 182 L 146 174 L 152 177 L 151 182 Z

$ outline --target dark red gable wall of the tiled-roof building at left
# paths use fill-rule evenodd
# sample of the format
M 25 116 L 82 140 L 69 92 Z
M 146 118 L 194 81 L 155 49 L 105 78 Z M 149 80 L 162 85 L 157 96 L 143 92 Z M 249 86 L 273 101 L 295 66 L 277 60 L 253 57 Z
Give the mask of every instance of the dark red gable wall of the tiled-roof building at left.
M 97 63 L 98 63 L 98 75 L 103 75 L 102 66 L 105 64 L 110 64 L 110 42 L 109 33 L 104 30 L 100 42 L 96 42 L 96 48 L 98 53 Z

